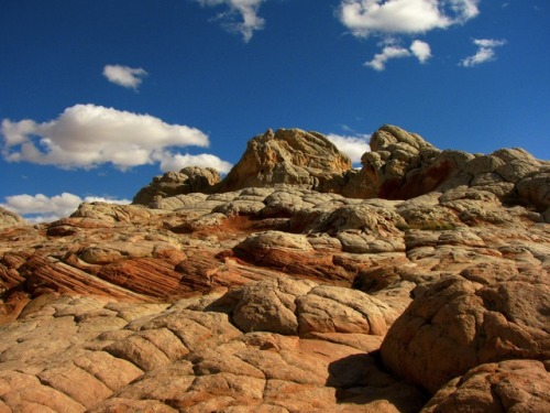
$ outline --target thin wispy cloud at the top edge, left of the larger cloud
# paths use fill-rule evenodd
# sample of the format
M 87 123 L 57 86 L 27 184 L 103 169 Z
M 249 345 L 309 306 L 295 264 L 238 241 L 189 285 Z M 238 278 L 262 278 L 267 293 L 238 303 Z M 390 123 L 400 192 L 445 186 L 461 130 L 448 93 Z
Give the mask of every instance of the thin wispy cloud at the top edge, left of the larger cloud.
M 260 6 L 265 0 L 195 0 L 202 7 L 224 6 L 226 11 L 218 14 L 222 25 L 230 32 L 241 33 L 244 42 L 250 42 L 257 30 L 262 30 L 265 20 L 257 15 Z M 237 21 L 240 18 L 242 21 Z

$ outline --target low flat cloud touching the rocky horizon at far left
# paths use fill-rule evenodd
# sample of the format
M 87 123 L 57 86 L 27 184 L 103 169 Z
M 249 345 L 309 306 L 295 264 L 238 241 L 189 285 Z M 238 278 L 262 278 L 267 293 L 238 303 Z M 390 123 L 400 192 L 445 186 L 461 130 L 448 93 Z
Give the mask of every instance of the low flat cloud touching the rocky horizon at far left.
M 0 206 L 8 210 L 16 213 L 31 222 L 51 222 L 73 214 L 82 203 L 103 202 L 109 204 L 130 204 L 129 199 L 116 199 L 110 197 L 87 196 L 85 198 L 78 195 L 63 193 L 55 196 L 36 195 L 12 195 L 7 196 L 4 204 Z

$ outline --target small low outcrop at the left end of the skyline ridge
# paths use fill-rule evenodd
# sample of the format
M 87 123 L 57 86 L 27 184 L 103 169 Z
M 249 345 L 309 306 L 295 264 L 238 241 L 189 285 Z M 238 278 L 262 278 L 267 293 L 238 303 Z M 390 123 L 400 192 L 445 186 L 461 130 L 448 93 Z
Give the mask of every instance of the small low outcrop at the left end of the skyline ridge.
M 218 171 L 211 167 L 187 166 L 179 172 L 166 172 L 162 176 L 155 176 L 151 184 L 140 189 L 132 203 L 150 205 L 157 198 L 209 192 L 220 180 Z

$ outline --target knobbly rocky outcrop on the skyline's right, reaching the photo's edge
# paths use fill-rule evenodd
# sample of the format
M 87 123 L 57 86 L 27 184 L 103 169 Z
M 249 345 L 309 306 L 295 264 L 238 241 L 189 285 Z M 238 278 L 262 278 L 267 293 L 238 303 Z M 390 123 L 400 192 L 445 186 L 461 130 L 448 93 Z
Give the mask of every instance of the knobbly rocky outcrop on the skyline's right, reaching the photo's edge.
M 528 202 L 539 211 L 550 206 L 550 163 L 521 149 L 490 155 L 441 151 L 416 133 L 386 124 L 372 135 L 371 152 L 361 161 L 363 169 L 351 176 L 344 193 L 362 198 L 409 199 L 469 186 L 504 202 Z

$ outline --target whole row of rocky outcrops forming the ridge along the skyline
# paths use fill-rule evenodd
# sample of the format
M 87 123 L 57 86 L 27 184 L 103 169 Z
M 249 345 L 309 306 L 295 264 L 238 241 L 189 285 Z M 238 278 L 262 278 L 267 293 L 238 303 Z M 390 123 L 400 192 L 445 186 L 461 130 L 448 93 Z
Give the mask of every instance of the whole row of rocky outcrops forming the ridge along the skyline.
M 384 124 L 371 138 L 362 169 L 324 135 L 300 129 L 267 130 L 252 138 L 237 165 L 221 180 L 211 169 L 187 167 L 157 176 L 134 204 L 190 193 L 293 186 L 353 198 L 410 199 L 431 192 L 474 187 L 509 204 L 528 203 L 550 219 L 550 162 L 522 149 L 488 155 L 442 151 L 419 134 Z

